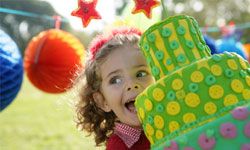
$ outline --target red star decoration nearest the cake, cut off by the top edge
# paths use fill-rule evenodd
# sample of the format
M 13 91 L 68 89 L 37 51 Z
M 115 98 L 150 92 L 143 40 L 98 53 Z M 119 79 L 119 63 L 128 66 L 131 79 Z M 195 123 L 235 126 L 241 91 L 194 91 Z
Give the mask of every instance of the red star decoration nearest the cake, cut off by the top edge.
M 160 2 L 156 0 L 134 0 L 135 1 L 135 8 L 133 9 L 132 13 L 136 14 L 139 12 L 143 12 L 148 18 L 151 18 L 151 10 L 154 7 L 160 5 Z

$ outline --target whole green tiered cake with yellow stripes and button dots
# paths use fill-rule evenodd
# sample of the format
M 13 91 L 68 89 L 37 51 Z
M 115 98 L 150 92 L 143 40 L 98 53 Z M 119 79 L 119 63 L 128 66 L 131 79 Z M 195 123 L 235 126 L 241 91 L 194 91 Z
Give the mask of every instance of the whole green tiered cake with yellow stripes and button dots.
M 140 47 L 156 83 L 136 99 L 152 149 L 249 149 L 250 65 L 211 55 L 192 17 L 151 26 Z

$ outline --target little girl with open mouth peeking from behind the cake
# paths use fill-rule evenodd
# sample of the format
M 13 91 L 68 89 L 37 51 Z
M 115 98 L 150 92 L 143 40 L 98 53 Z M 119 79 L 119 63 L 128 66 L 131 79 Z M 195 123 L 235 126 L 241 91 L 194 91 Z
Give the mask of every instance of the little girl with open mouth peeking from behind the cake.
M 135 28 L 97 36 L 89 47 L 77 102 L 77 125 L 94 133 L 108 150 L 149 149 L 134 106 L 135 98 L 154 82 L 138 47 Z

